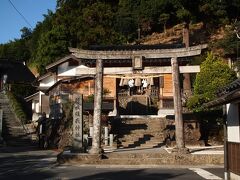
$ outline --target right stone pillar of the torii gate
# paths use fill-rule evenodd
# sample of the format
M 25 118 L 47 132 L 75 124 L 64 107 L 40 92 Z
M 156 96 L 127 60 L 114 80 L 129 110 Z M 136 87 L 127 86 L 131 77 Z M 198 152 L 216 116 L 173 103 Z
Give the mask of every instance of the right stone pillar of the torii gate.
M 179 82 L 179 66 L 178 66 L 176 57 L 173 57 L 171 59 L 171 64 L 172 64 L 176 143 L 177 143 L 177 149 L 183 149 L 185 148 L 185 144 L 184 144 L 184 133 L 183 133 L 182 102 L 181 102 L 180 82 Z

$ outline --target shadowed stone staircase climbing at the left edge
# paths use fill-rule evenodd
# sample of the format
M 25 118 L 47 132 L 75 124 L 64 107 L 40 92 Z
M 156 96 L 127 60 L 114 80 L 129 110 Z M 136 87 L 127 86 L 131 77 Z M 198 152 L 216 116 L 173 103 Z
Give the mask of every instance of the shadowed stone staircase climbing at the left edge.
M 32 146 L 30 135 L 16 118 L 6 95 L 0 93 L 0 109 L 3 109 L 3 139 L 7 146 Z

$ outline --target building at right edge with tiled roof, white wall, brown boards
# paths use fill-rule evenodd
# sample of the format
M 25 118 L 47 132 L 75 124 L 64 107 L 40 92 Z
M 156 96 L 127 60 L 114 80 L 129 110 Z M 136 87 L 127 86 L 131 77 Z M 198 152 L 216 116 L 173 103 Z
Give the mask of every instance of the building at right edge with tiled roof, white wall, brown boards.
M 206 107 L 226 105 L 226 164 L 230 179 L 240 179 L 240 79 L 218 90 L 218 98 Z

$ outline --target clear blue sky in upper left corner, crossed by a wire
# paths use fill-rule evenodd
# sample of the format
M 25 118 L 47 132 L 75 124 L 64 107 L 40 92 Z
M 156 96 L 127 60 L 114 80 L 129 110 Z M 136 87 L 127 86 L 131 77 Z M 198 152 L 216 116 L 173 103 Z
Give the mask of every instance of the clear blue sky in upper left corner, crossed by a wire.
M 47 14 L 48 9 L 55 11 L 56 7 L 56 0 L 11 0 L 11 2 L 33 28 L 37 22 L 43 20 L 43 14 Z M 0 0 L 0 24 L 0 44 L 19 39 L 20 29 L 29 27 L 9 0 Z

